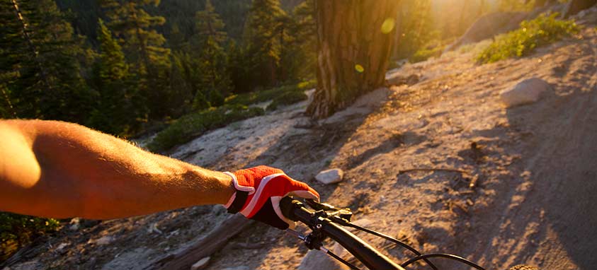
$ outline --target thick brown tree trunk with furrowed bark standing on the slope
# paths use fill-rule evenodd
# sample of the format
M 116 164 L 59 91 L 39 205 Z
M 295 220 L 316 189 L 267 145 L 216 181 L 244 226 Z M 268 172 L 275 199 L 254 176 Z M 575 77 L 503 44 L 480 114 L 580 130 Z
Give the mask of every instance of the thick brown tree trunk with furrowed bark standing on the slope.
M 308 115 L 328 117 L 383 86 L 395 27 L 382 33 L 382 24 L 394 24 L 398 5 L 397 0 L 315 1 L 317 90 Z

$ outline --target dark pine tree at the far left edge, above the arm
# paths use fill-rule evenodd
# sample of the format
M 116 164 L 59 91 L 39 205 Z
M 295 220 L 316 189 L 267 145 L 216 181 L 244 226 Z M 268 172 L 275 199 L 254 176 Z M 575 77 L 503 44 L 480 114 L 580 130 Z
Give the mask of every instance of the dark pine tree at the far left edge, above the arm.
M 0 84 L 14 115 L 84 122 L 93 93 L 77 61 L 82 40 L 73 35 L 55 2 L 11 0 L 0 8 Z M 6 43 L 10 46 L 4 47 Z

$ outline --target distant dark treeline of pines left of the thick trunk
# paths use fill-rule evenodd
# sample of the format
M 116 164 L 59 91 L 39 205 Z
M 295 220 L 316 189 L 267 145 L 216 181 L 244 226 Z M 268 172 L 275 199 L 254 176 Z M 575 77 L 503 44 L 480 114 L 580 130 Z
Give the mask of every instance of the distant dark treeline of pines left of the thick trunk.
M 312 78 L 312 1 L 285 2 L 2 1 L 0 116 L 128 136 Z

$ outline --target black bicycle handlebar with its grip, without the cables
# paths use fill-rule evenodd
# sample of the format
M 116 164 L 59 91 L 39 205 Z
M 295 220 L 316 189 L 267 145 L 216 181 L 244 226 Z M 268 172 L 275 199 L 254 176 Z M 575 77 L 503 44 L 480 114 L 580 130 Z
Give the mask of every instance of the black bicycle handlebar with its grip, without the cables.
M 286 218 L 305 223 L 312 230 L 318 230 L 338 242 L 369 269 L 404 270 L 404 268 L 392 262 L 384 254 L 381 254 L 345 228 L 328 218 L 315 215 L 316 212 L 306 209 L 300 201 L 285 197 L 280 200 L 280 209 Z

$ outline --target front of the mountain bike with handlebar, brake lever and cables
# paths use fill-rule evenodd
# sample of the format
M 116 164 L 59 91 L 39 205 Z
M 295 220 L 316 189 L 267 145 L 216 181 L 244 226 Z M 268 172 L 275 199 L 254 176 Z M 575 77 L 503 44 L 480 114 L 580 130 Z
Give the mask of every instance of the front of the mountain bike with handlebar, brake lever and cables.
M 312 210 L 307 209 L 309 206 Z M 305 242 L 305 245 L 309 248 L 309 250 L 321 250 L 322 252 L 329 254 L 329 256 L 337 259 L 342 264 L 345 264 L 351 269 L 359 269 L 355 265 L 351 264 L 350 262 L 342 259 L 337 254 L 334 254 L 330 250 L 323 247 L 322 242 L 326 240 L 327 237 L 331 238 L 332 240 L 338 242 L 342 247 L 344 247 L 348 252 L 353 254 L 358 261 L 363 263 L 363 265 L 367 266 L 368 269 L 397 269 L 397 270 L 404 270 L 406 266 L 413 264 L 414 262 L 423 260 L 426 264 L 431 267 L 433 270 L 438 270 L 437 266 L 433 264 L 429 258 L 433 257 L 443 257 L 445 259 L 452 259 L 462 264 L 467 264 L 468 266 L 479 269 L 485 270 L 482 266 L 475 264 L 474 262 L 469 261 L 468 259 L 458 257 L 453 254 L 445 254 L 445 253 L 431 253 L 431 254 L 421 254 L 418 250 L 414 249 L 410 245 L 391 237 L 390 235 L 385 235 L 383 233 L 378 233 L 374 230 L 369 230 L 367 228 L 360 227 L 359 225 L 351 223 L 351 218 L 353 213 L 351 209 L 339 209 L 335 206 L 331 206 L 329 204 L 322 204 L 317 201 L 305 200 L 305 204 L 301 201 L 297 201 L 290 196 L 287 196 L 280 200 L 280 209 L 282 210 L 283 215 L 292 220 L 298 221 L 300 223 L 304 223 L 307 225 L 311 232 L 308 235 L 302 235 L 295 230 L 288 229 L 288 232 L 292 235 L 295 235 L 297 238 Z M 406 248 L 414 254 L 414 257 L 411 259 L 406 260 L 402 264 L 397 264 L 393 262 L 390 258 L 386 257 L 384 254 L 379 252 L 372 247 L 367 242 L 363 241 L 350 231 L 346 230 L 346 228 L 355 228 L 356 230 L 361 230 L 365 233 L 370 233 L 377 237 L 382 237 L 385 240 L 389 240 L 394 242 L 396 245 Z M 525 265 L 517 265 L 511 267 L 509 270 L 538 270 L 533 266 L 525 266 Z

